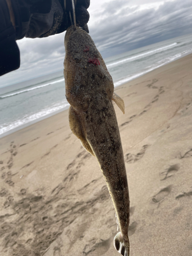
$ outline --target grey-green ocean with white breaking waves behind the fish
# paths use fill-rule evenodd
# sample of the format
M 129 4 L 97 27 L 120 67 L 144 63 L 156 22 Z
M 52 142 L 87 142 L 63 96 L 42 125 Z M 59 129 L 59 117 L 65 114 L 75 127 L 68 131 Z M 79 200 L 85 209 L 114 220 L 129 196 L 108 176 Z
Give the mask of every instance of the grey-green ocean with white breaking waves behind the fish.
M 192 53 L 185 35 L 105 58 L 114 86 Z M 63 71 L 0 88 L 0 138 L 69 108 Z

